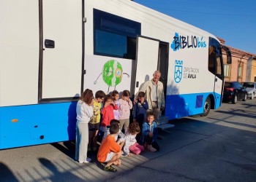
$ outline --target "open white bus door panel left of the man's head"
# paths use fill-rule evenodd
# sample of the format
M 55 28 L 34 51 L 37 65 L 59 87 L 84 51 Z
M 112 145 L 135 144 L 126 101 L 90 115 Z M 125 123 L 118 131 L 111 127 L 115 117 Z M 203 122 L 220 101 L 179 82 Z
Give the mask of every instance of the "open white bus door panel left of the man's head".
M 159 40 L 138 36 L 135 68 L 135 94 L 141 84 L 153 78 L 159 58 Z

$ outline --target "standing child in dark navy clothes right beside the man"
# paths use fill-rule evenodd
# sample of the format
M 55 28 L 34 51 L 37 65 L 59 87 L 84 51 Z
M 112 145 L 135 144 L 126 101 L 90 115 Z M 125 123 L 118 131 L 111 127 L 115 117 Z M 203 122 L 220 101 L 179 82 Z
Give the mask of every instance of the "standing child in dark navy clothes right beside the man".
M 146 120 L 148 110 L 148 101 L 145 99 L 145 92 L 138 93 L 138 102 L 133 106 L 133 122 L 138 122 L 142 128 L 143 122 Z

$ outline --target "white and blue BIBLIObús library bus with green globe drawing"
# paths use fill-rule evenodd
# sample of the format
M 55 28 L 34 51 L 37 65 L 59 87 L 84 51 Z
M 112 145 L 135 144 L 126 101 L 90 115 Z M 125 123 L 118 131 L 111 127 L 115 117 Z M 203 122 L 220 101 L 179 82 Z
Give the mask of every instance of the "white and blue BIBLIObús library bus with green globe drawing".
M 81 92 L 130 90 L 162 73 L 167 119 L 219 108 L 216 36 L 129 0 L 0 1 L 0 149 L 75 139 Z

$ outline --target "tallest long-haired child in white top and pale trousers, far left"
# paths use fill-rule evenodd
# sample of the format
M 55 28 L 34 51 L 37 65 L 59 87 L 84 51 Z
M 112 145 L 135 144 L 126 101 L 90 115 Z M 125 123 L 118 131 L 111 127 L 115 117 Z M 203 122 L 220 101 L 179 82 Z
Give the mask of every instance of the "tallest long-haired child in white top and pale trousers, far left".
M 78 160 L 79 163 L 91 161 L 91 159 L 87 157 L 87 147 L 89 141 L 88 123 L 93 115 L 93 96 L 93 92 L 86 89 L 77 103 L 75 160 Z

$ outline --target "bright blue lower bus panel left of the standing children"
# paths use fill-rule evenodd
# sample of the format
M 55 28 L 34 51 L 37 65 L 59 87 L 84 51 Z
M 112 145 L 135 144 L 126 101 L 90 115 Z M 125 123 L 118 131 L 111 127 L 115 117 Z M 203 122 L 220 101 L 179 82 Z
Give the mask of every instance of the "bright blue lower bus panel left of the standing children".
M 0 149 L 75 139 L 76 102 L 0 108 Z

